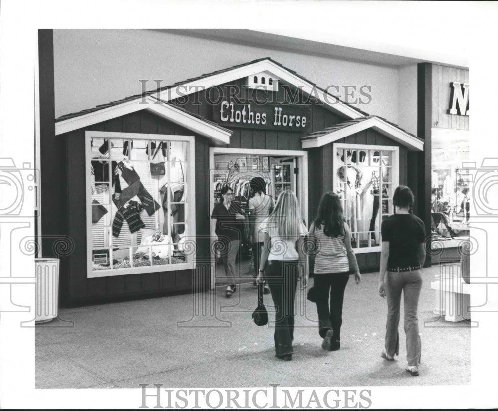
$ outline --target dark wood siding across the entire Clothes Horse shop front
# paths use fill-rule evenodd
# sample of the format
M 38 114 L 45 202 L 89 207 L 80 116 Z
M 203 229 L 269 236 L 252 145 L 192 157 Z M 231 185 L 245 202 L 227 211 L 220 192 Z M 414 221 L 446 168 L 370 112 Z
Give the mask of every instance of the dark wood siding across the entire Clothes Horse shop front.
M 242 81 L 232 83 L 242 86 Z M 242 88 L 240 88 L 242 90 Z M 295 90 L 294 90 L 295 91 Z M 184 110 L 202 116 L 207 120 L 213 118 L 213 101 L 211 96 L 201 91 L 196 95 L 174 101 L 173 104 Z M 240 96 L 242 97 L 242 96 Z M 275 98 L 284 98 L 281 89 Z M 299 98 L 299 95 L 298 95 Z M 252 130 L 248 128 L 233 128 L 230 148 L 249 149 L 279 149 L 302 150 L 300 137 L 312 131 L 340 123 L 345 119 L 331 113 L 321 104 L 311 104 L 311 127 L 304 132 Z M 189 130 L 161 119 L 147 111 L 140 111 L 103 123 L 95 124 L 85 129 L 76 130 L 66 135 L 58 136 L 61 144 L 65 144 L 67 173 L 67 221 L 64 224 L 67 234 L 75 242 L 75 250 L 66 259 L 67 271 L 61 273 L 65 277 L 64 289 L 61 289 L 63 305 L 74 305 L 101 300 L 113 300 L 120 297 L 150 296 L 174 292 L 188 292 L 192 290 L 194 275 L 201 280 L 201 288 L 209 286 L 210 274 L 210 210 L 209 208 L 209 148 L 213 145 L 208 139 L 195 136 L 195 189 L 196 189 L 196 241 L 197 266 L 194 271 L 171 271 L 162 273 L 130 274 L 102 278 L 87 278 L 87 244 L 86 244 L 86 216 L 83 212 L 86 198 L 85 190 L 85 130 L 122 132 L 122 133 L 150 133 L 193 135 Z M 401 184 L 407 183 L 408 153 L 404 146 L 369 129 L 355 135 L 341 139 L 341 143 L 370 144 L 370 145 L 397 145 L 400 147 L 400 175 Z M 309 184 L 309 214 L 307 223 L 314 218 L 318 202 L 323 192 L 332 190 L 333 156 L 332 144 L 324 147 L 309 149 L 308 151 L 308 184 Z M 306 216 L 305 216 L 306 217 Z M 365 253 L 357 255 L 362 270 L 378 269 L 379 253 Z M 199 288 L 197 288 L 199 290 Z

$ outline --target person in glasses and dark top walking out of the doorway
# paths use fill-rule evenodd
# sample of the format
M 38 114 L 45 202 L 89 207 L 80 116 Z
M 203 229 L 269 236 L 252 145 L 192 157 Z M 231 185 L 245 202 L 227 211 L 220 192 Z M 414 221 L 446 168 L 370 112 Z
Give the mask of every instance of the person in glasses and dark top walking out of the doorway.
M 242 238 L 243 220 L 246 217 L 240 214 L 232 204 L 233 191 L 226 185 L 222 187 L 220 202 L 216 203 L 211 218 L 216 220 L 215 233 L 218 249 L 220 251 L 223 268 L 229 285 L 227 285 L 226 296 L 231 297 L 236 291 L 235 260 Z

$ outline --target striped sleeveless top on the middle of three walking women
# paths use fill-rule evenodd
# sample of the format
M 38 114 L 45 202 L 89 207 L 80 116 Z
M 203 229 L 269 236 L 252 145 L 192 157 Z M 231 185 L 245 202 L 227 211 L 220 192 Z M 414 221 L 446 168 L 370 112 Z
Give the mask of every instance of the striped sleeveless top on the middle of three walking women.
M 329 237 L 324 234 L 323 227 L 315 227 L 315 238 L 317 244 L 315 274 L 344 273 L 349 271 L 344 236 Z

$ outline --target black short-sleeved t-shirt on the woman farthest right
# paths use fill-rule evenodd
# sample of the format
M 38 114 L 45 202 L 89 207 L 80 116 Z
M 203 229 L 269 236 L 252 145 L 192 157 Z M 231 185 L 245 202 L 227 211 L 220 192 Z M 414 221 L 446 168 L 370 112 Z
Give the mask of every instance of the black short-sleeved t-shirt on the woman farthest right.
M 424 222 L 413 214 L 393 214 L 382 221 L 382 241 L 389 242 L 388 268 L 418 266 L 419 245 L 425 241 Z

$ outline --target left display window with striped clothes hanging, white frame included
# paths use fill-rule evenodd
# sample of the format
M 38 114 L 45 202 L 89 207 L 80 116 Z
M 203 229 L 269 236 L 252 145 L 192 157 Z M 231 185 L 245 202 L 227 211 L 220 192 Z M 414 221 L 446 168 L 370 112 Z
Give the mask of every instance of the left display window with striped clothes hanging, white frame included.
M 86 135 L 88 276 L 191 268 L 193 137 Z

